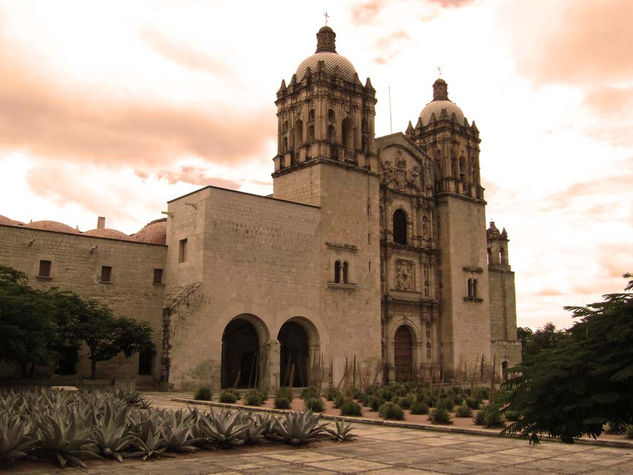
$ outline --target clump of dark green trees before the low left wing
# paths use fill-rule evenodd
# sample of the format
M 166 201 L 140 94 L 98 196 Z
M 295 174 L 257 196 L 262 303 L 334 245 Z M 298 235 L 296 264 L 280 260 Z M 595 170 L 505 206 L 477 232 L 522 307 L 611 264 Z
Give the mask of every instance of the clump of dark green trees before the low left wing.
M 0 266 L 0 360 L 18 363 L 23 377 L 80 341 L 90 351 L 93 378 L 99 361 L 154 349 L 146 323 L 114 316 L 106 305 L 73 292 L 39 291 L 27 282 L 24 273 Z

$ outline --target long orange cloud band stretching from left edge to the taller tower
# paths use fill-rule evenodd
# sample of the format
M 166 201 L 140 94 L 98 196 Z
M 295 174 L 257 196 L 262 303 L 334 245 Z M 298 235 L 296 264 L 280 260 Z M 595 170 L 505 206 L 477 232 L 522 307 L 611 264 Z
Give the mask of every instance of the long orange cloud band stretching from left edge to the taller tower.
M 236 163 L 267 150 L 275 133 L 264 108 L 235 112 L 109 100 L 72 91 L 19 58 L 0 37 L 2 149 L 108 165 L 152 167 L 191 155 Z

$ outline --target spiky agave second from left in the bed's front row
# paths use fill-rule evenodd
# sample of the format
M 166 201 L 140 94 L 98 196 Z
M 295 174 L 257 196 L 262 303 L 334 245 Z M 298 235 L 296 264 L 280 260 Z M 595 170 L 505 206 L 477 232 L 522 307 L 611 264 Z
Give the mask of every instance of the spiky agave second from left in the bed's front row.
M 82 458 L 101 458 L 90 438 L 90 429 L 78 424 L 73 415 L 41 414 L 36 424 L 39 456 L 56 459 L 62 467 L 70 463 L 84 468 Z

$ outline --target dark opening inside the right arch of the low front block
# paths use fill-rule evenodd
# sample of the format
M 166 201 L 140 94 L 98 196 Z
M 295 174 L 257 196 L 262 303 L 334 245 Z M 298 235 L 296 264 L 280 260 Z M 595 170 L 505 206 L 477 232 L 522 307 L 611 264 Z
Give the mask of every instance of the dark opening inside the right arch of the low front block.
M 281 351 L 280 385 L 304 387 L 309 385 L 308 364 L 310 360 L 310 344 L 308 334 L 295 321 L 284 323 L 279 330 Z M 292 378 L 292 381 L 290 380 Z

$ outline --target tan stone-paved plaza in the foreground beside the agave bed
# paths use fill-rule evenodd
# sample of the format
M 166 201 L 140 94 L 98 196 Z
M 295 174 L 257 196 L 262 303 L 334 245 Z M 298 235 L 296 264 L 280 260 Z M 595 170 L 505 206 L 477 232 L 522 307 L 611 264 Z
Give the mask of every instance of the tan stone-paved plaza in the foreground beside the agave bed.
M 172 410 L 190 407 L 173 399 L 190 397 L 190 393 L 147 393 L 153 407 Z M 633 473 L 633 449 L 551 441 L 530 446 L 515 438 L 360 423 L 354 424 L 354 433 L 353 442 L 317 442 L 302 448 L 242 447 L 152 462 L 90 463 L 87 471 L 31 465 L 19 473 Z

